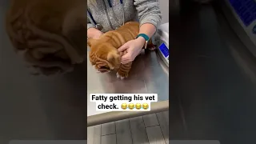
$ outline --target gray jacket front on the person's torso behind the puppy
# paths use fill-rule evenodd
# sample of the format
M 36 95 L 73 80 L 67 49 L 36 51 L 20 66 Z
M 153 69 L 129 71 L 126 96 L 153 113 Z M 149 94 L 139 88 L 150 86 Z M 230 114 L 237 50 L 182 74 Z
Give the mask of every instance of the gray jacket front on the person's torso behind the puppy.
M 114 30 L 122 26 L 123 22 L 136 21 L 138 19 L 134 1 L 123 0 L 96 0 L 95 4 L 87 1 L 87 7 L 94 21 L 102 25 L 102 32 Z M 123 10 L 122 10 L 123 9 Z M 94 24 L 94 22 L 91 22 Z

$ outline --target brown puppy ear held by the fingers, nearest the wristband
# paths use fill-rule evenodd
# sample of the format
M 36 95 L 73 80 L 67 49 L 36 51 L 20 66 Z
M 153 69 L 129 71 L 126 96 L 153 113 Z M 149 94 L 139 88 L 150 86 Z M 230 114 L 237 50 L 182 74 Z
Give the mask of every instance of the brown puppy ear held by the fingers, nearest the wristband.
M 107 54 L 107 61 L 110 62 L 110 69 L 114 69 L 121 64 L 121 56 L 116 51 L 111 51 Z

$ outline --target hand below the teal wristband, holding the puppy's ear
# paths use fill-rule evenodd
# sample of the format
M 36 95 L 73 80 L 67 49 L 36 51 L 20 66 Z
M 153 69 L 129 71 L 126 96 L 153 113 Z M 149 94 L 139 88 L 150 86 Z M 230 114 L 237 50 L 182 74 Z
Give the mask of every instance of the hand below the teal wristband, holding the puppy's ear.
M 142 47 L 145 44 L 145 39 L 139 37 L 137 39 L 126 42 L 123 46 L 119 47 L 118 51 L 122 52 L 124 50 L 127 51 L 121 58 L 121 63 L 126 64 L 129 62 L 133 62 L 134 59 L 140 54 Z

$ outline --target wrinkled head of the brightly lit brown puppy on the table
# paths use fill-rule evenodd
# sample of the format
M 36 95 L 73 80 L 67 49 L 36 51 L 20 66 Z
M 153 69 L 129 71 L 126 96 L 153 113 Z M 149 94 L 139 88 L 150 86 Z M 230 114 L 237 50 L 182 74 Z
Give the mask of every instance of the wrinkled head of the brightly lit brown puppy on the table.
M 88 46 L 90 46 L 90 63 L 98 72 L 110 72 L 120 66 L 121 56 L 110 43 L 88 39 Z

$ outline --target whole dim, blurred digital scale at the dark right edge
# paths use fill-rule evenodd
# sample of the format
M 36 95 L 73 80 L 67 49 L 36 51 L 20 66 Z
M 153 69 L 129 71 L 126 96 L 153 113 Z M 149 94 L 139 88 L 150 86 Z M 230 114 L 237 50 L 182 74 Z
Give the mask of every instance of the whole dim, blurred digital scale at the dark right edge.
M 256 1 L 226 0 L 226 6 L 228 6 L 229 9 L 223 7 L 223 11 L 226 14 L 227 20 L 230 22 L 230 26 L 233 27 L 234 31 L 238 34 L 238 37 L 241 38 L 242 42 L 256 57 Z M 230 18 L 228 15 L 229 12 L 226 10 L 231 10 L 235 20 Z M 239 23 L 240 26 L 235 26 L 234 23 Z M 243 29 L 242 31 L 244 31 L 249 38 L 242 34 L 244 32 L 239 32 L 238 27 L 241 26 Z

